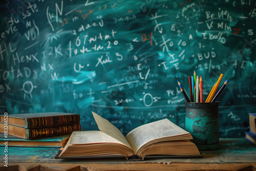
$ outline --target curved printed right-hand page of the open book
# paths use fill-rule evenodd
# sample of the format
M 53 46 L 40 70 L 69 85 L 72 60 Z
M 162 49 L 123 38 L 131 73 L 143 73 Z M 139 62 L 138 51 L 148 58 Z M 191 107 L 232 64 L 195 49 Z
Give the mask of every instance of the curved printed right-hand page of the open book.
M 133 147 L 134 152 L 137 153 L 138 149 L 147 142 L 159 138 L 184 134 L 189 133 L 168 119 L 162 119 L 137 127 L 126 135 L 126 139 Z

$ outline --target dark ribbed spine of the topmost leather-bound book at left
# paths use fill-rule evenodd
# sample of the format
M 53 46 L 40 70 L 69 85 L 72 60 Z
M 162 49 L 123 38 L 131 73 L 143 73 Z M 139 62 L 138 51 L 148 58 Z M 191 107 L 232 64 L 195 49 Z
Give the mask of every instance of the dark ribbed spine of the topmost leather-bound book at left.
M 62 115 L 62 116 L 28 118 L 26 119 L 25 128 L 35 129 L 40 127 L 78 124 L 79 122 L 80 122 L 79 115 Z

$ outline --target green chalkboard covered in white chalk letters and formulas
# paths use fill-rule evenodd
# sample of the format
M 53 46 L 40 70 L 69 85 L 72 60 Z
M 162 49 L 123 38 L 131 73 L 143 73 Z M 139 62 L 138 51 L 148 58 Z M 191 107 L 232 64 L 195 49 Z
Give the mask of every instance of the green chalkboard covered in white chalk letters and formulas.
M 220 74 L 220 136 L 243 137 L 256 111 L 255 1 L 2 1 L 0 108 L 91 111 L 126 134 L 168 118 L 184 127 L 188 76 L 204 99 Z

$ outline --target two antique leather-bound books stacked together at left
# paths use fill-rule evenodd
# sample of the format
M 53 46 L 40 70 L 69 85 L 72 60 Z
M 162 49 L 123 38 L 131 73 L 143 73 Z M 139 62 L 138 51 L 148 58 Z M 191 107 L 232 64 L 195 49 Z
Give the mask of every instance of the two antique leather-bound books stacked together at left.
M 11 114 L 8 115 L 8 125 L 6 116 L 0 117 L 0 133 L 23 139 L 36 139 L 52 136 L 71 134 L 73 131 L 80 131 L 80 116 L 69 113 L 31 113 L 31 114 Z

